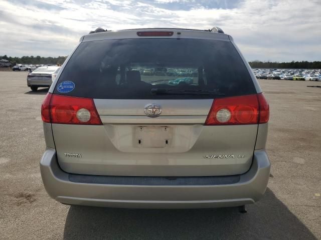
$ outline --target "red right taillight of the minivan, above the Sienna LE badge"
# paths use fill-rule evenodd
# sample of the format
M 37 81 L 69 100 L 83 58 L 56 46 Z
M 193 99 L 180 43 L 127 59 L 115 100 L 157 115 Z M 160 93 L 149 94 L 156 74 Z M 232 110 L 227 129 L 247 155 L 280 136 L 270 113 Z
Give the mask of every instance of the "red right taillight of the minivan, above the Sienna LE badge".
M 268 103 L 262 93 L 218 98 L 213 101 L 205 125 L 265 123 L 268 112 Z

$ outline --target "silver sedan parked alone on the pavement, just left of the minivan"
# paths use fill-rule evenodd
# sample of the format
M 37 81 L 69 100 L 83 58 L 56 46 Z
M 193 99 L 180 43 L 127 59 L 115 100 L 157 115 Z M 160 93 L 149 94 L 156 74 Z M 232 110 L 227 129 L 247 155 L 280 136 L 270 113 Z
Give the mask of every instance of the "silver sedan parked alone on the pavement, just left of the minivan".
M 27 85 L 33 91 L 38 87 L 49 87 L 52 83 L 52 74 L 60 68 L 59 66 L 40 66 L 27 76 Z

